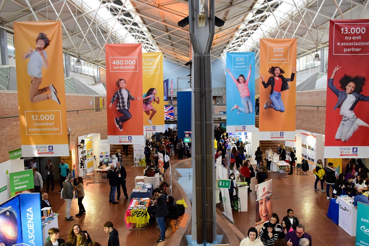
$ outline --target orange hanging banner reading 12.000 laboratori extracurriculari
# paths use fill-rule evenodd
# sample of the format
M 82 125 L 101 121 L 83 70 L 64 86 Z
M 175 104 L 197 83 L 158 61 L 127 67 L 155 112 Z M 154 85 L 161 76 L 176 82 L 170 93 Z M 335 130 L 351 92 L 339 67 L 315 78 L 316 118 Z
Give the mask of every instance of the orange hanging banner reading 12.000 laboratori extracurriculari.
M 23 156 L 68 155 L 61 21 L 14 22 Z

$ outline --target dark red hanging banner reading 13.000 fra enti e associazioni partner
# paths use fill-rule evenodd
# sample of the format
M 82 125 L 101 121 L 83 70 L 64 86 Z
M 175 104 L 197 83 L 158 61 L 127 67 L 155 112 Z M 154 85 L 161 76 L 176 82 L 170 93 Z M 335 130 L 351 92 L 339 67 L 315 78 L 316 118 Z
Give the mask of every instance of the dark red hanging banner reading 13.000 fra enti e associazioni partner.
M 324 158 L 365 158 L 369 146 L 369 20 L 331 20 Z

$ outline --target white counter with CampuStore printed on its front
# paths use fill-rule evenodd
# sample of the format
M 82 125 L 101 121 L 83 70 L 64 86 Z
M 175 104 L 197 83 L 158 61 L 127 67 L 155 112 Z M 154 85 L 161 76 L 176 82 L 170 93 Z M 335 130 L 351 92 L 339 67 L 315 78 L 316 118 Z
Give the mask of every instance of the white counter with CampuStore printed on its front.
M 356 218 L 358 216 L 358 211 L 350 202 L 350 200 L 353 199 L 354 198 L 349 199 L 349 197 L 338 197 L 337 201 L 339 204 L 338 225 L 350 236 L 354 237 L 356 236 Z

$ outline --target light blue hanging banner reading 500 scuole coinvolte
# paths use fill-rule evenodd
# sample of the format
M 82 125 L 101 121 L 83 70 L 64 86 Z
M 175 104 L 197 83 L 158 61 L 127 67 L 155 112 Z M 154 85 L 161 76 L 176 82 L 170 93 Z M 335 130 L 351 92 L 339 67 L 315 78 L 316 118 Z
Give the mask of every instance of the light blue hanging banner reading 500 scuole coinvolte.
M 255 53 L 227 53 L 227 132 L 255 131 Z

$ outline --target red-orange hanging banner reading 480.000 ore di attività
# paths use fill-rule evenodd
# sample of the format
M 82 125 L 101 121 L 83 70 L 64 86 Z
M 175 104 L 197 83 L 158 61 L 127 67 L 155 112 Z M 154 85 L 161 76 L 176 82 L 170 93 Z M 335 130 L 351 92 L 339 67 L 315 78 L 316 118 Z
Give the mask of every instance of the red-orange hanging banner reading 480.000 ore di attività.
M 105 48 L 108 143 L 142 144 L 142 45 Z

